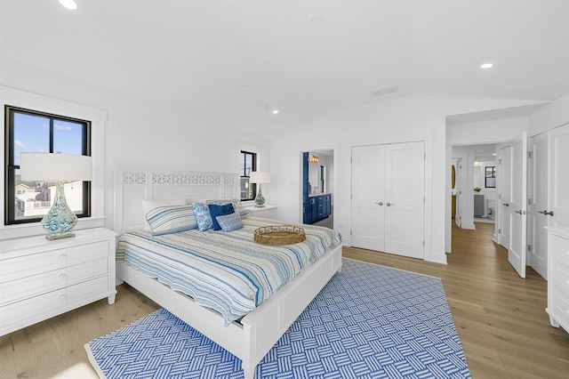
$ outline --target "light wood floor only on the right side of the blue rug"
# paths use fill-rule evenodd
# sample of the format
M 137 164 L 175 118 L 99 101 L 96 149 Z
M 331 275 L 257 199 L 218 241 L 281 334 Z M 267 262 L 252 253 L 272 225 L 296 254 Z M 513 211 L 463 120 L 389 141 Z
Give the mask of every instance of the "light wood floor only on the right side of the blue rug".
M 454 323 L 474 378 L 563 378 L 569 373 L 569 334 L 549 325 L 547 282 L 509 265 L 493 243 L 493 224 L 453 226 L 447 265 L 344 247 L 344 257 L 443 279 Z

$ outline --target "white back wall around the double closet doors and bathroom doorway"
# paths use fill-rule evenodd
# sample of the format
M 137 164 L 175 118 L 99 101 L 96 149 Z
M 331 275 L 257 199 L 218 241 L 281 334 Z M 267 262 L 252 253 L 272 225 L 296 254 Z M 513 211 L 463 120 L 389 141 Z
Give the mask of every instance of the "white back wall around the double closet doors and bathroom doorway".
M 334 151 L 338 183 L 334 188 L 334 223 L 345 244 L 349 245 L 351 147 L 426 141 L 425 259 L 446 262 L 444 210 L 445 189 L 450 188 L 450 172 L 447 179 L 445 117 L 529 103 L 532 101 L 410 97 L 342 109 L 295 125 L 302 132 L 301 139 L 298 137 L 300 134 L 294 133 L 295 129 L 292 128 L 271 140 L 271 175 L 274 178 L 271 181 L 271 203 L 279 206 L 279 216 L 284 220 L 301 221 L 301 208 L 297 206 L 301 204 L 300 152 L 315 149 L 315 143 L 323 147 L 337 146 Z

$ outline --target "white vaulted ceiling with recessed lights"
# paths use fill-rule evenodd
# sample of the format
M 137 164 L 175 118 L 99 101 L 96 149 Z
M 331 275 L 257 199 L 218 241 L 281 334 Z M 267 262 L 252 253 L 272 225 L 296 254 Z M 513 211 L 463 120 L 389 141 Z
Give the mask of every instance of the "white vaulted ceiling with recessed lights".
M 566 0 L 76 3 L 0 0 L 2 55 L 228 125 L 413 94 L 569 93 Z

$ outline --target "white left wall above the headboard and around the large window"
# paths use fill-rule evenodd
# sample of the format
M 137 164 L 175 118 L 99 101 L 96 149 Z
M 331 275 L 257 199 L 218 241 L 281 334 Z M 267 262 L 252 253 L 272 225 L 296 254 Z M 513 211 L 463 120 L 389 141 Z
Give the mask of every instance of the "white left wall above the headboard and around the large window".
M 238 154 L 246 149 L 259 153 L 260 170 L 270 168 L 268 141 L 258 135 L 20 62 L 3 58 L 1 63 L 0 85 L 107 111 L 104 224 L 108 228 L 113 224 L 113 167 L 238 173 Z M 271 186 L 263 188 L 268 198 Z

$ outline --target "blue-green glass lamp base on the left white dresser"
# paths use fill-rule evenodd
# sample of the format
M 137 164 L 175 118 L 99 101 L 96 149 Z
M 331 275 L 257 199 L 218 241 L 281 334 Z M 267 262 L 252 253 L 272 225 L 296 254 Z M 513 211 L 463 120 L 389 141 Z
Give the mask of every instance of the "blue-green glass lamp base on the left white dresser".
M 45 214 L 41 225 L 47 232 L 45 238 L 50 241 L 59 238 L 75 237 L 75 233 L 71 230 L 77 224 L 77 216 L 68 206 L 65 200 L 65 191 L 63 189 L 63 181 L 58 181 L 55 187 L 55 199 L 53 200 L 52 209 Z

